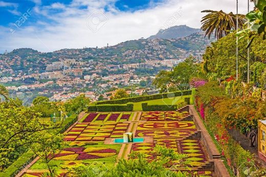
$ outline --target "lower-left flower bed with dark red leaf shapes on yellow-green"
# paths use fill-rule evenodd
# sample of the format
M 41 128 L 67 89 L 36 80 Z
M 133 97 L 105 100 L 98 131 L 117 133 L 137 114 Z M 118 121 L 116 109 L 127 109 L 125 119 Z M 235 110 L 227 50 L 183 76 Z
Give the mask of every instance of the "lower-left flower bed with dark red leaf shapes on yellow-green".
M 63 148 L 51 161 L 58 172 L 79 164 L 91 164 L 95 161 L 102 161 L 106 165 L 114 165 L 121 149 L 121 144 L 104 144 L 99 141 L 71 141 L 68 145 L 70 146 Z M 43 170 L 46 169 L 46 165 L 41 160 L 38 160 L 30 167 L 27 173 L 43 173 Z

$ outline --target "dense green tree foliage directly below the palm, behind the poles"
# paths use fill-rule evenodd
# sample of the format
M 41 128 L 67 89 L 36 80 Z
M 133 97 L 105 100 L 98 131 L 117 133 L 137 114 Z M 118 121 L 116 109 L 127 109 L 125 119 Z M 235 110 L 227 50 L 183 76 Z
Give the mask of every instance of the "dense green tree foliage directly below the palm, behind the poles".
M 246 40 L 245 40 L 246 39 Z M 238 69 L 239 78 L 247 82 L 247 38 L 238 41 Z M 236 75 L 236 42 L 235 32 L 213 42 L 211 46 L 207 47 L 203 55 L 202 68 L 207 74 L 209 80 L 216 78 L 226 79 L 232 75 Z M 259 62 L 260 65 L 266 61 L 266 41 L 259 36 L 254 38 L 254 43 L 250 46 L 250 61 L 251 65 Z M 256 77 L 256 71 L 250 67 L 251 78 Z M 262 72 L 260 72 L 261 74 Z

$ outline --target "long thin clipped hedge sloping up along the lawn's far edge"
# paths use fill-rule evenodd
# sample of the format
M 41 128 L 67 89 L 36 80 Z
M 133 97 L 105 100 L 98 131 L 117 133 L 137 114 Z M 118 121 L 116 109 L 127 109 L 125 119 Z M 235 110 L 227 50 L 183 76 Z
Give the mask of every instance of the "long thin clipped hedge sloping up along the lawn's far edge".
M 97 102 L 96 105 L 127 104 L 130 102 L 131 103 L 145 102 L 147 100 L 152 100 L 152 99 L 161 99 L 161 98 L 168 98 L 168 97 L 175 97 L 175 96 L 182 96 L 182 95 L 191 95 L 191 93 L 192 93 L 192 90 L 183 90 L 183 91 L 160 93 L 160 94 L 154 94 L 154 95 L 145 95 L 145 96 L 121 98 L 121 99 L 115 99 L 115 100 L 106 100 L 102 102 Z

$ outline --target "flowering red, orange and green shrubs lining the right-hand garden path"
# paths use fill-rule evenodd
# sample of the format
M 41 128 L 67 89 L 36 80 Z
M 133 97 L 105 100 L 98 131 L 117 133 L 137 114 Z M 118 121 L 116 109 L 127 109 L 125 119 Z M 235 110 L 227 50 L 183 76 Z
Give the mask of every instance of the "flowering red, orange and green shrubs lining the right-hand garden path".
M 266 116 L 266 103 L 254 97 L 231 98 L 225 94 L 223 87 L 216 82 L 209 82 L 198 87 L 195 106 L 205 120 L 210 135 L 219 144 L 228 165 L 235 174 L 245 176 L 242 168 L 254 168 L 253 156 L 232 139 L 228 129 L 239 130 L 249 137 L 257 130 L 258 119 Z

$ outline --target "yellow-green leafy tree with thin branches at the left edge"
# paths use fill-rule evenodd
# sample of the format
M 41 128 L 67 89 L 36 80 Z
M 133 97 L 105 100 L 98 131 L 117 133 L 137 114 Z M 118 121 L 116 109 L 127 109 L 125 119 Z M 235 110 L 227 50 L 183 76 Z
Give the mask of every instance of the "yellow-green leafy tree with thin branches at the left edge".
M 59 129 L 61 122 L 40 123 L 40 115 L 31 107 L 21 106 L 18 100 L 0 104 L 0 167 L 4 170 L 16 160 L 25 149 L 41 137 L 45 130 Z

